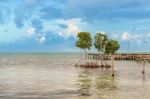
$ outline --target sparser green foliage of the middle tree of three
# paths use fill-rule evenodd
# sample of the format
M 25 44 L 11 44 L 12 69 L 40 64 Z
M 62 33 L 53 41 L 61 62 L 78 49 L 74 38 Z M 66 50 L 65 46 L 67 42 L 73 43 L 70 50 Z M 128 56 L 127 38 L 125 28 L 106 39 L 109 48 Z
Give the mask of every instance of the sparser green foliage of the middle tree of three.
M 104 51 L 108 38 L 106 34 L 96 33 L 94 37 L 94 46 L 98 51 Z

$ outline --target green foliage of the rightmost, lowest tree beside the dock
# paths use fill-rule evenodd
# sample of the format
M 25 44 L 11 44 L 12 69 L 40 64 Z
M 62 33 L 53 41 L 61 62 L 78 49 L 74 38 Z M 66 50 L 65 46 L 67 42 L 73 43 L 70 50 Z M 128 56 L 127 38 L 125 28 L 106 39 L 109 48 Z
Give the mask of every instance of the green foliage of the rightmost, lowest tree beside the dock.
M 119 48 L 120 48 L 120 45 L 119 45 L 118 41 L 108 40 L 106 47 L 105 47 L 105 53 L 106 54 L 114 54 Z

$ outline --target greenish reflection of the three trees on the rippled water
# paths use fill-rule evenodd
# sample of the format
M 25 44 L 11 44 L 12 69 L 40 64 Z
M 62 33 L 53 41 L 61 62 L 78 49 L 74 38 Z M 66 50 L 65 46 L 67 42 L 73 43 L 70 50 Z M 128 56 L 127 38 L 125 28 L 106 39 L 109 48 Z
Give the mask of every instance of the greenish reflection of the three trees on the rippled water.
M 100 71 L 100 70 L 99 70 Z M 107 99 L 117 90 L 117 80 L 110 73 L 97 75 L 97 70 L 83 69 L 78 72 L 77 87 L 82 97 Z M 110 93 L 109 93 L 110 92 Z M 94 97 L 93 97 L 94 96 Z

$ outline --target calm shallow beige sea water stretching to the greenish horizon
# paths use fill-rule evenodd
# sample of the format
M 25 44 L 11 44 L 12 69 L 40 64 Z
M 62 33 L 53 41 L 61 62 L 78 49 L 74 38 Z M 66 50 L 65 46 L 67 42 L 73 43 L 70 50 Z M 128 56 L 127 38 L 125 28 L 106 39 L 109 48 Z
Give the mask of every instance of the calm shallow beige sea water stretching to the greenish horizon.
M 150 63 L 115 61 L 111 69 L 74 65 L 77 53 L 1 53 L 0 99 L 150 99 Z

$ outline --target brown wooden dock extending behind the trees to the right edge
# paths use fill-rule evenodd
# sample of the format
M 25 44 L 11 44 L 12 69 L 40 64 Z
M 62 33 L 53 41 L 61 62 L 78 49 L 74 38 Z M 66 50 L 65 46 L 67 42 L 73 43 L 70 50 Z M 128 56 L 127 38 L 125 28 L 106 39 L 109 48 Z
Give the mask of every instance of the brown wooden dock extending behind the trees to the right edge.
M 89 53 L 88 59 L 100 59 L 100 54 L 98 53 Z M 109 60 L 111 55 L 104 55 L 104 59 Z M 150 61 L 150 54 L 124 54 L 118 53 L 114 54 L 115 60 L 148 60 Z

